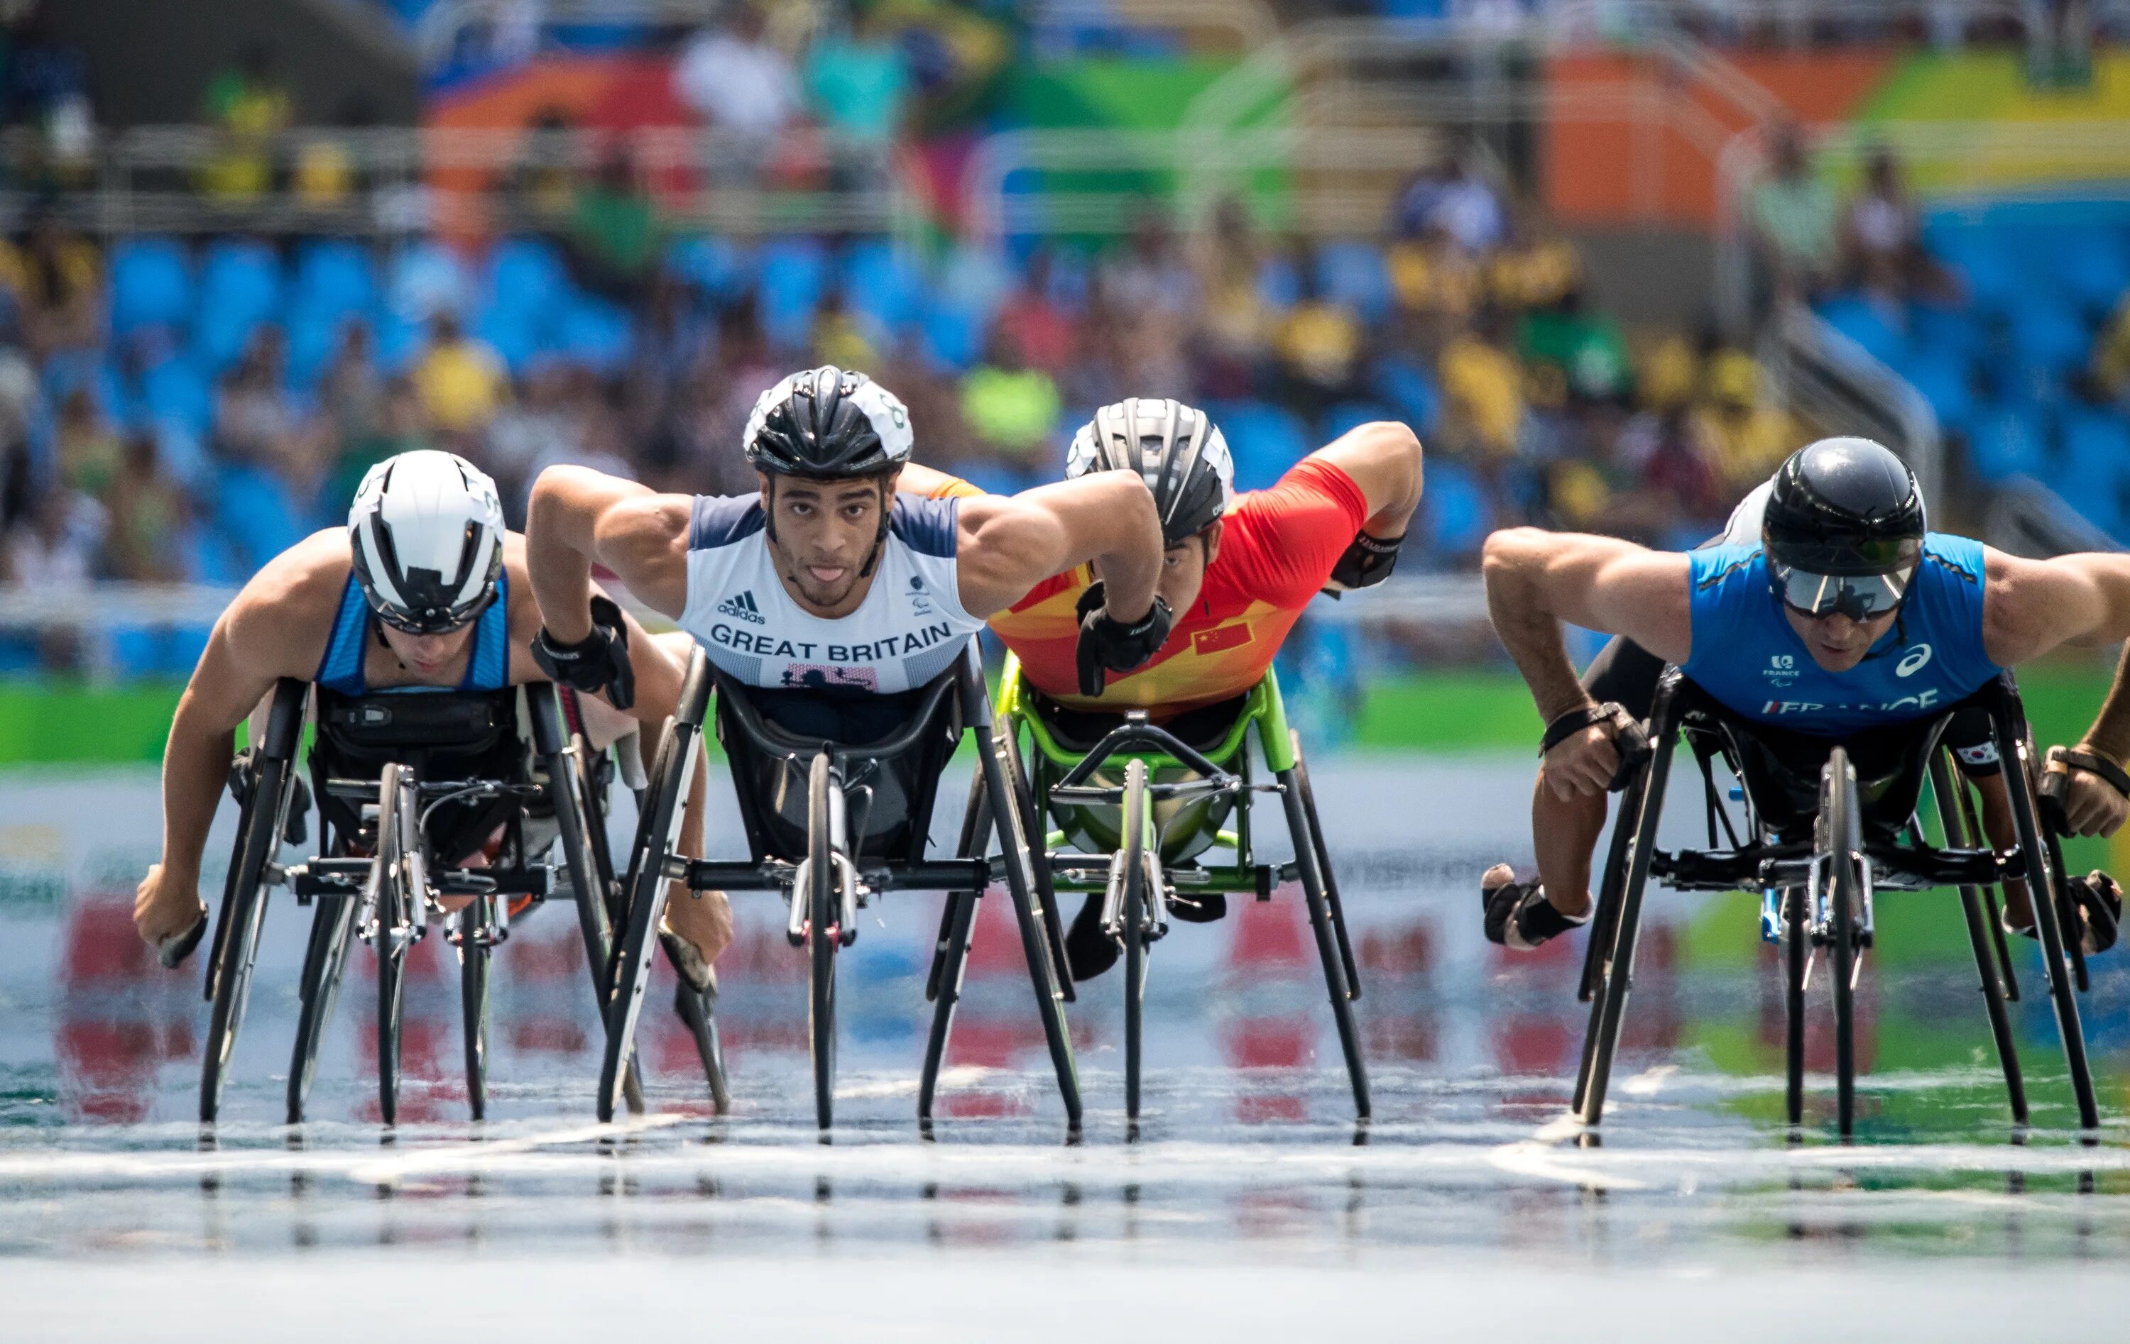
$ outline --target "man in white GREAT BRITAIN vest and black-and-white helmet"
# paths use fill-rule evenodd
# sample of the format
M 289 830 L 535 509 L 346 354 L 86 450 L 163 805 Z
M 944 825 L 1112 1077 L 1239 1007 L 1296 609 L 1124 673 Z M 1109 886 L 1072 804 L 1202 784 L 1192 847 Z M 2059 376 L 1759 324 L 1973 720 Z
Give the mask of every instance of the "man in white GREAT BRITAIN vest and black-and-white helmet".
M 829 364 L 756 400 L 743 449 L 758 494 L 656 494 L 586 466 L 543 471 L 526 535 L 562 677 L 601 686 L 620 643 L 592 607 L 594 562 L 737 682 L 812 692 L 775 696 L 769 718 L 848 743 L 901 728 L 905 692 L 952 667 L 986 616 L 1074 564 L 1099 560 L 1112 577 L 1076 622 L 1093 665 L 1129 671 L 1161 648 L 1161 522 L 1140 477 L 927 501 L 897 494 L 912 443 L 901 400 Z

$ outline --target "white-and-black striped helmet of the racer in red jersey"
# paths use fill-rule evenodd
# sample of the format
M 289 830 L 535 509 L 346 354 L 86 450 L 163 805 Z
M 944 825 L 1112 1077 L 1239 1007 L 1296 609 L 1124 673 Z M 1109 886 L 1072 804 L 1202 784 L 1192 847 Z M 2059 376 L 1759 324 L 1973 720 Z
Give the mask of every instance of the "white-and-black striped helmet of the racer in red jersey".
M 1137 471 L 1154 492 L 1161 543 L 1178 545 L 1227 509 L 1235 464 L 1206 411 L 1180 400 L 1116 400 L 1080 426 L 1065 479 L 1091 471 Z

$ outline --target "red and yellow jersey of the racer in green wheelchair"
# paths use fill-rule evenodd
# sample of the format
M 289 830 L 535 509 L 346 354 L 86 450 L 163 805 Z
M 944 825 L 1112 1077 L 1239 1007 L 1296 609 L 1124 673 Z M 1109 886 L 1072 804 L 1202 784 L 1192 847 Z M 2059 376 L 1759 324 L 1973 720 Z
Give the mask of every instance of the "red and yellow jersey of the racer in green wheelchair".
M 1295 462 L 1272 490 L 1238 496 L 1197 601 L 1176 613 L 1169 641 L 1146 667 L 1110 673 L 1101 699 L 1078 694 L 1074 658 L 1080 641 L 1074 607 L 1093 581 L 1088 567 L 1044 579 L 993 616 L 990 628 L 1020 656 L 1029 682 L 1061 705 L 1161 711 L 1212 705 L 1263 679 L 1280 641 L 1365 522 L 1367 496 L 1323 458 Z

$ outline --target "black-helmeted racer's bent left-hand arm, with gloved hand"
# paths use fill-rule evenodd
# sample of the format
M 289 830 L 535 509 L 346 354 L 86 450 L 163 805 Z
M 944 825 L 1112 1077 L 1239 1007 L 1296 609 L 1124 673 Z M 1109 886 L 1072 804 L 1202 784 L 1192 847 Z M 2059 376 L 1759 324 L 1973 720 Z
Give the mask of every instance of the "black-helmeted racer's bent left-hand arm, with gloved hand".
M 1487 539 L 1487 611 L 1549 724 L 1591 703 L 1568 662 L 1561 622 L 1625 635 L 1666 662 L 1691 650 L 1689 562 L 1632 541 L 1510 528 Z M 1561 799 L 1602 792 L 1619 769 L 1606 726 L 1546 754 L 1546 786 Z

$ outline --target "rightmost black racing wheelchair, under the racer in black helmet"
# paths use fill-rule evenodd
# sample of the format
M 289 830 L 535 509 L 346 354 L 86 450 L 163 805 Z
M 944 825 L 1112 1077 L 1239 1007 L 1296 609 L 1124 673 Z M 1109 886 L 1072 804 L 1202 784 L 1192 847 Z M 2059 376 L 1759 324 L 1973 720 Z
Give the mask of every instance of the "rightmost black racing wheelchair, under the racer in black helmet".
M 1981 837 L 1968 786 L 1940 745 L 1947 724 L 1964 709 L 1987 716 L 2019 837 L 2013 850 L 1996 852 Z M 1664 788 L 1681 737 L 1693 750 L 1706 784 L 1706 850 L 1657 850 Z M 2096 1129 L 2100 1114 L 2077 1003 L 2077 990 L 2085 988 L 2079 912 L 2066 892 L 2055 833 L 2045 829 L 2026 709 L 2013 675 L 2006 671 L 1968 699 L 1913 724 L 1877 728 L 1832 748 L 1823 741 L 1817 750 L 1804 748 L 1806 741 L 1815 739 L 1779 733 L 1727 711 L 1676 667 L 1664 671 L 1649 718 L 1651 752 L 1625 786 L 1589 927 L 1578 997 L 1591 1003 L 1591 1016 L 1576 1073 L 1576 1116 L 1585 1125 L 1598 1125 L 1604 1116 L 1634 980 L 1642 897 L 1649 880 L 1661 878 L 1674 890 L 1764 892 L 1764 924 L 1779 929 L 1783 948 L 1785 1114 L 1791 1127 L 1804 1118 L 1804 990 L 1815 958 L 1825 950 L 1834 999 L 1836 1122 L 1842 1140 L 1855 1133 L 1855 984 L 1864 952 L 1874 939 L 1872 899 L 1881 890 L 1957 888 L 2011 1112 L 2024 1125 L 2026 1084 L 2004 1010 L 2006 999 L 2017 999 L 2017 980 L 1998 920 L 1996 886 L 2026 882 L 2079 1125 Z M 1734 797 L 1744 803 L 1744 841 L 1717 794 L 1713 760 L 1719 756 L 1740 784 Z M 1923 837 L 1919 822 L 1917 803 L 1926 782 L 1936 794 L 1945 826 L 1943 848 Z M 1719 848 L 1719 822 L 1730 848 Z M 2066 929 L 2072 931 L 2068 944 Z

